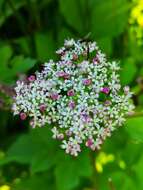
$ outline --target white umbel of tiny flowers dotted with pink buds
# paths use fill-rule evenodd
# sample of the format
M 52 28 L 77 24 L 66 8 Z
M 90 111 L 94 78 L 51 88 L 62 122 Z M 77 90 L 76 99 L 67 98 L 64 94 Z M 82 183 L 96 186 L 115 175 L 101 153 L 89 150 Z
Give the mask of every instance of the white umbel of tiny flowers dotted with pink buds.
M 109 62 L 96 42 L 65 40 L 41 72 L 17 81 L 13 112 L 30 125 L 49 124 L 66 153 L 77 156 L 85 145 L 100 149 L 122 126 L 134 106 L 129 87 L 121 87 L 119 64 Z

